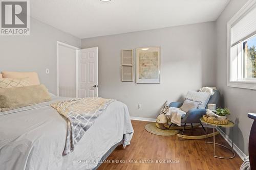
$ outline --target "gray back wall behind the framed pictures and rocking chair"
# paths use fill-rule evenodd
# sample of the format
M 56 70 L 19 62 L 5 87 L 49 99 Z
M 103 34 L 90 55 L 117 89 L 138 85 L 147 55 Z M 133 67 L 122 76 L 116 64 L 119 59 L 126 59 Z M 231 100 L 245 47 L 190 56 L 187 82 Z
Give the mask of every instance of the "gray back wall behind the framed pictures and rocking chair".
M 82 39 L 82 48 L 93 46 L 99 47 L 99 96 L 122 101 L 131 116 L 156 118 L 165 100 L 215 85 L 214 22 Z M 121 50 L 147 46 L 161 46 L 161 84 L 121 82 Z

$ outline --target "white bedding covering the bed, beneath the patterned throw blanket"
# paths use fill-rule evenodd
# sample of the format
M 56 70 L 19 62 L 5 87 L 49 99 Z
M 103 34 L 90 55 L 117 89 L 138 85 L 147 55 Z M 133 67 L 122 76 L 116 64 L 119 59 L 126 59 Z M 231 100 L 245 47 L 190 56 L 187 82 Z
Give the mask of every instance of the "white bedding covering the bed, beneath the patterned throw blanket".
M 62 156 L 67 123 L 50 104 L 65 98 L 0 112 L 0 169 L 92 169 L 133 127 L 127 106 L 113 102 L 83 135 L 75 151 Z

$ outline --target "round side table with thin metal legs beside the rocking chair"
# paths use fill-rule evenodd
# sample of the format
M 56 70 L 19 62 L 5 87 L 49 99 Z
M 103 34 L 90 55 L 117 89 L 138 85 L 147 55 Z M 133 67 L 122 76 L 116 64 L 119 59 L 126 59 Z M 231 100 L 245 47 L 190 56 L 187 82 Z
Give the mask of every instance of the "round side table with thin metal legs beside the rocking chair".
M 205 121 L 203 120 L 203 117 L 200 118 L 200 121 L 201 121 L 201 123 L 204 123 L 204 124 L 206 125 L 206 126 L 205 126 L 205 143 L 214 144 L 214 157 L 216 157 L 216 158 L 221 158 L 221 159 L 232 159 L 232 158 L 234 158 L 234 157 L 236 156 L 236 154 L 234 154 L 234 148 L 233 148 L 233 127 L 234 127 L 234 123 L 231 122 L 231 121 L 228 121 L 228 124 L 227 124 L 227 125 L 211 124 L 211 123 L 205 122 Z M 216 127 L 231 128 L 231 129 L 232 129 L 232 131 L 231 131 L 231 144 L 232 144 L 232 148 L 230 149 L 229 147 L 226 147 L 226 146 L 224 146 L 223 144 L 216 143 L 216 142 L 215 142 L 215 135 L 214 135 L 214 142 L 208 142 L 208 141 L 207 141 L 207 125 L 211 125 L 211 126 L 212 126 L 212 128 L 214 129 L 214 133 L 215 133 L 215 128 L 216 128 Z M 216 150 L 215 150 L 215 145 L 216 145 L 216 144 L 217 144 L 217 145 L 220 145 L 221 147 L 224 147 L 224 148 L 230 150 L 230 151 L 233 153 L 233 156 L 231 156 L 231 157 L 221 157 L 221 156 L 217 156 L 217 155 L 216 155 Z

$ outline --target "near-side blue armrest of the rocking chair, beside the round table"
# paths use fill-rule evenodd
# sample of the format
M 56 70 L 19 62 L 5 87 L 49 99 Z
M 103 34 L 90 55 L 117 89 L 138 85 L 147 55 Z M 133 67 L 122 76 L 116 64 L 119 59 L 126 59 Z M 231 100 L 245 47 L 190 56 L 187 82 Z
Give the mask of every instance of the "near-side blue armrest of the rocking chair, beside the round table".
M 184 118 L 181 120 L 182 123 L 187 124 L 198 124 L 200 122 L 200 118 L 206 114 L 206 109 L 190 109 L 185 114 Z

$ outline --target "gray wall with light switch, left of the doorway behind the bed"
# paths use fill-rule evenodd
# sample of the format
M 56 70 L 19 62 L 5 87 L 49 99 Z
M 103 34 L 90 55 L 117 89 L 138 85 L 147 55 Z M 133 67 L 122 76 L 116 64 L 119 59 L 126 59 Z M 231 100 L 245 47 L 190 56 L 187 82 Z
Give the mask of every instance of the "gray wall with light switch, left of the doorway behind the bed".
M 30 36 L 0 36 L 0 71 L 35 71 L 40 82 L 56 94 L 57 41 L 81 46 L 81 39 L 31 18 Z

